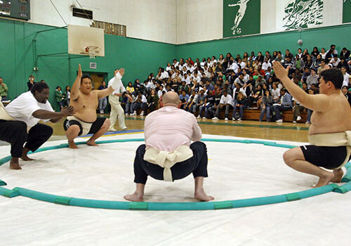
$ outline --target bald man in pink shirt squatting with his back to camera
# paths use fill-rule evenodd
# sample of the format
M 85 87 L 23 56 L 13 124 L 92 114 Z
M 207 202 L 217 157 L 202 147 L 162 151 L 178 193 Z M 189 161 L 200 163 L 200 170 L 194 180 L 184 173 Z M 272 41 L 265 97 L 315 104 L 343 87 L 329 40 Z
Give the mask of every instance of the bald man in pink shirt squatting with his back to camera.
M 145 144 L 136 150 L 134 182 L 136 190 L 124 199 L 143 201 L 147 176 L 164 181 L 175 181 L 193 174 L 194 198 L 210 201 L 214 198 L 204 191 L 207 177 L 207 150 L 201 140 L 201 129 L 190 112 L 178 108 L 179 96 L 173 91 L 162 98 L 163 108 L 145 118 Z M 190 144 L 190 141 L 195 141 Z

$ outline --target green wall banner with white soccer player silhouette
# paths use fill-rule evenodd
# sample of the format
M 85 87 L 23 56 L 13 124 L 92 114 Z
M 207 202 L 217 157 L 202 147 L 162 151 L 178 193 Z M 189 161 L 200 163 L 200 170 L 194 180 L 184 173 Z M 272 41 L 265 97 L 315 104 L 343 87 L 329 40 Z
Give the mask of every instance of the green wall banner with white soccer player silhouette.
M 223 0 L 223 37 L 260 33 L 260 0 Z

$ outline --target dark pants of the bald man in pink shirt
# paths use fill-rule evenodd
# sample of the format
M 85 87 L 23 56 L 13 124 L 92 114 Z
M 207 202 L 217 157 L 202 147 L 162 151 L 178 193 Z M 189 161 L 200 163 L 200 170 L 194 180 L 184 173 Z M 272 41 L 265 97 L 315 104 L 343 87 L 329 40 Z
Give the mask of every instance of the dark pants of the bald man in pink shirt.
M 140 145 L 136 150 L 134 160 L 134 182 L 145 184 L 147 176 L 157 180 L 164 180 L 164 168 L 144 160 L 145 144 Z M 173 181 L 183 179 L 192 173 L 194 178 L 207 177 L 207 150 L 202 142 L 194 142 L 190 145 L 194 155 L 184 162 L 178 162 L 171 167 Z

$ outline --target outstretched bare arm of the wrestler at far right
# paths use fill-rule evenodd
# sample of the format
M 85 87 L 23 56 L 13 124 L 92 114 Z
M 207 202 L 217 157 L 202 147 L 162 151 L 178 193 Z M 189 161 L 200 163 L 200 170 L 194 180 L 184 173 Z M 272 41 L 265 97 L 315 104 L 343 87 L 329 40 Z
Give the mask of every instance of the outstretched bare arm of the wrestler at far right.
M 286 69 L 279 62 L 273 62 L 273 69 L 278 79 L 282 81 L 291 96 L 296 98 L 305 108 L 317 112 L 324 112 L 329 109 L 329 98 L 324 94 L 310 95 L 305 93 L 298 85 L 293 83 L 288 77 L 290 66 Z

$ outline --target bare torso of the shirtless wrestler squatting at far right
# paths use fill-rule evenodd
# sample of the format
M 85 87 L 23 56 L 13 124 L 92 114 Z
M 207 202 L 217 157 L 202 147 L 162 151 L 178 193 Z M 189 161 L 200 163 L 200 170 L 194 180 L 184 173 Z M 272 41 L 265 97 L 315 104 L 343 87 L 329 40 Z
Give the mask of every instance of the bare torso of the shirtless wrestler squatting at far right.
M 312 113 L 309 135 L 351 131 L 351 108 L 345 96 L 333 93 L 328 97 L 326 111 Z

